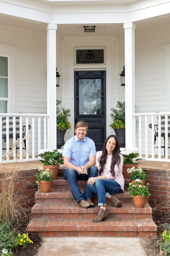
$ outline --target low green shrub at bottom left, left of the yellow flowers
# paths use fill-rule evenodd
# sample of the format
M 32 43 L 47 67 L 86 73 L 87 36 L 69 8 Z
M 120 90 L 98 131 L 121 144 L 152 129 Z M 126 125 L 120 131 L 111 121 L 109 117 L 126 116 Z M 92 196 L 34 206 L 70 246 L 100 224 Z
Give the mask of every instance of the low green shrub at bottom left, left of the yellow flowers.
M 0 223 L 0 252 L 15 247 L 15 231 L 10 231 L 10 223 Z

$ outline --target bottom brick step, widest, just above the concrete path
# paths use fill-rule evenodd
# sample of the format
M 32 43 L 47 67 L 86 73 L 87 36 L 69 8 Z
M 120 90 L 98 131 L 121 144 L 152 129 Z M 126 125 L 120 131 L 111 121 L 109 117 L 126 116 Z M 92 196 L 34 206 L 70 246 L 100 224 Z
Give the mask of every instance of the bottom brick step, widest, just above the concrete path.
M 157 234 L 152 219 L 112 220 L 94 223 L 89 219 L 32 219 L 27 231 L 42 236 L 114 236 L 145 237 Z

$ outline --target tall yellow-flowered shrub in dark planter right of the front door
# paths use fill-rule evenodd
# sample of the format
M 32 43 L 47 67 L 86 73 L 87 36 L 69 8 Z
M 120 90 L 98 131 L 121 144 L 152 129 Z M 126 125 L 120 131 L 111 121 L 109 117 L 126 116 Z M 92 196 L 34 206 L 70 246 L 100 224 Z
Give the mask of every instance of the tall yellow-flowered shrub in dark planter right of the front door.
M 125 147 L 125 102 L 118 101 L 115 108 L 111 108 L 112 127 L 119 137 L 121 147 Z

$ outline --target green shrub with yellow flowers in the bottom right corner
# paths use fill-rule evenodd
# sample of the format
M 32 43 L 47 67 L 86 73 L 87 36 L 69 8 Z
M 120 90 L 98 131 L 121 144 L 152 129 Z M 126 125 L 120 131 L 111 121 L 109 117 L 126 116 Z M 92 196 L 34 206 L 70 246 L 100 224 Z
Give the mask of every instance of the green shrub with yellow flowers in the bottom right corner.
M 170 255 L 170 224 L 162 224 L 165 228 L 162 233 L 163 242 L 157 241 L 157 244 L 160 246 L 160 250 L 164 252 L 165 255 Z

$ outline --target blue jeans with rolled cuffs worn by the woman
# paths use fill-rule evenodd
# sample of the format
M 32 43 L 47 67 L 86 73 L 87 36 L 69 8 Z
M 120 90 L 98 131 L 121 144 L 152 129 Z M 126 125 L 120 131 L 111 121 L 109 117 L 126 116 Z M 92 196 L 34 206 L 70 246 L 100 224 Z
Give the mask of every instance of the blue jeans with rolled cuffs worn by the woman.
M 98 206 L 106 206 L 106 198 L 109 194 L 119 194 L 122 192 L 121 185 L 115 180 L 98 179 L 93 185 L 87 184 L 87 187 L 98 194 Z

